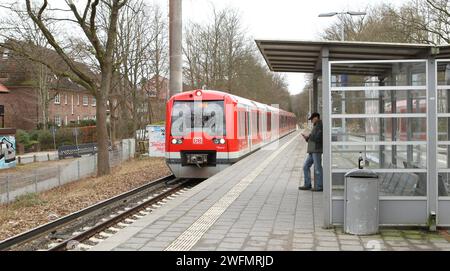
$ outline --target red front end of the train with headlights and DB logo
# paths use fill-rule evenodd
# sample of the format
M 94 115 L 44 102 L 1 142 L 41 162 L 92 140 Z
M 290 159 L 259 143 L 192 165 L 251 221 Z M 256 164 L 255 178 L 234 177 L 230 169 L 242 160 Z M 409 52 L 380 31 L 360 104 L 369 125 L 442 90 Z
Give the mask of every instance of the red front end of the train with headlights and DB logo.
M 209 178 L 226 168 L 227 98 L 194 90 L 174 95 L 166 108 L 166 162 L 178 178 Z

